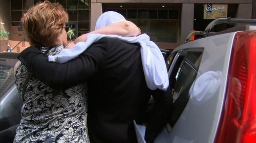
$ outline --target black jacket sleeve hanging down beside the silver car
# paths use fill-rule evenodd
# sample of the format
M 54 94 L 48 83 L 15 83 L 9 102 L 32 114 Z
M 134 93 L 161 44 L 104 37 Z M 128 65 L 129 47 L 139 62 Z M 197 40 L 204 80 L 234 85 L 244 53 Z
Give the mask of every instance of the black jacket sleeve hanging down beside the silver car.
M 145 141 L 147 143 L 154 142 L 154 139 L 170 119 L 173 110 L 173 96 L 169 88 L 167 91 L 157 89 L 153 91 L 152 95 L 155 104 L 146 125 Z

